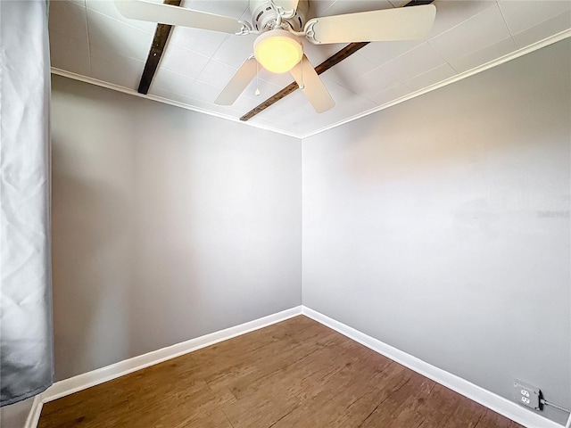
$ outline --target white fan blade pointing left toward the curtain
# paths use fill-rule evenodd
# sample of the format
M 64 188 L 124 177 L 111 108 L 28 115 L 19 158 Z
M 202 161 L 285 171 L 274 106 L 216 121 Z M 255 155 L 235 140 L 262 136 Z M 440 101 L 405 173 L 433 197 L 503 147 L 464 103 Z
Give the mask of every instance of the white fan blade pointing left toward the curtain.
M 170 4 L 150 3 L 143 0 L 115 0 L 115 6 L 125 18 L 133 20 L 180 25 L 194 29 L 211 29 L 231 34 L 242 34 L 249 29 L 247 23 L 234 18 L 193 11 Z

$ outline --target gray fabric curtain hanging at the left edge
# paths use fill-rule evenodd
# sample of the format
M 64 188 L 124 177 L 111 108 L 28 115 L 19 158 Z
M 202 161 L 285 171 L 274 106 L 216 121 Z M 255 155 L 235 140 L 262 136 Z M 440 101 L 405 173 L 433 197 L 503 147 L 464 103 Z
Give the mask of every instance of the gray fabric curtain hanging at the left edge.
M 54 376 L 47 6 L 0 0 L 0 406 Z

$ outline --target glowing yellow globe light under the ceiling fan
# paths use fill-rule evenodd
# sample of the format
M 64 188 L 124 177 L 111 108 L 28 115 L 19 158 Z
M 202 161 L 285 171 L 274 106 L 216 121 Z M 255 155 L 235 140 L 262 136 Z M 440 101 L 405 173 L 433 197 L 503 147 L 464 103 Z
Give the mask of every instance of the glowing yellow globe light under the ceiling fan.
M 262 33 L 253 44 L 253 54 L 261 66 L 274 73 L 292 70 L 302 60 L 302 44 L 285 29 Z

